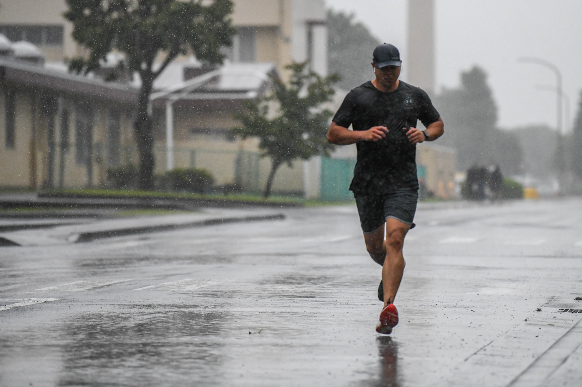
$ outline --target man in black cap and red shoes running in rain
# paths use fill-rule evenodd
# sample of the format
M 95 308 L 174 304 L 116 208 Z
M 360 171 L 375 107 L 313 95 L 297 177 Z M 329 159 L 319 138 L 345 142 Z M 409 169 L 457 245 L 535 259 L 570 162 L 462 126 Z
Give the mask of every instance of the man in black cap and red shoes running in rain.
M 375 79 L 347 94 L 333 117 L 328 140 L 336 145 L 357 144 L 350 190 L 356 198 L 366 249 L 382 265 L 378 298 L 384 308 L 376 331 L 390 334 L 398 324 L 393 302 L 406 264 L 404 236 L 414 227 L 418 201 L 416 144 L 434 141 L 444 129 L 428 95 L 398 80 L 402 65 L 398 49 L 382 44 L 372 56 Z M 416 128 L 418 119 L 426 130 Z

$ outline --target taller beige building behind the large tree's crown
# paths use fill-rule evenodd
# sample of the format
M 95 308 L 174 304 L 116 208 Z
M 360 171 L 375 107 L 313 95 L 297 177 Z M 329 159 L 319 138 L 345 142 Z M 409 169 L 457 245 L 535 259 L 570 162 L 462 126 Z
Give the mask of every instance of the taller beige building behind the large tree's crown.
M 228 50 L 230 62 L 272 62 L 280 74 L 292 60 L 311 60 L 327 73 L 327 27 L 322 0 L 233 0 L 238 30 Z M 29 41 L 47 62 L 83 55 L 63 18 L 65 0 L 0 0 L 0 34 L 10 41 Z M 284 77 L 284 75 L 283 75 Z

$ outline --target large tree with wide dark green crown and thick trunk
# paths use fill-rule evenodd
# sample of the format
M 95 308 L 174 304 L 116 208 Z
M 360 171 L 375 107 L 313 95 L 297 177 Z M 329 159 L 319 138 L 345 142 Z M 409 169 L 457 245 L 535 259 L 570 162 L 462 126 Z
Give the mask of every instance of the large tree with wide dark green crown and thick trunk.
M 137 72 L 141 88 L 134 131 L 139 151 L 139 187 L 151 189 L 154 136 L 148 112 L 155 78 L 178 55 L 222 63 L 220 52 L 235 34 L 228 15 L 230 0 L 66 0 L 65 18 L 73 23 L 73 38 L 88 55 L 70 62 L 72 71 L 88 73 L 100 67 L 111 51 L 125 55 L 125 66 Z M 161 62 L 156 63 L 156 59 Z

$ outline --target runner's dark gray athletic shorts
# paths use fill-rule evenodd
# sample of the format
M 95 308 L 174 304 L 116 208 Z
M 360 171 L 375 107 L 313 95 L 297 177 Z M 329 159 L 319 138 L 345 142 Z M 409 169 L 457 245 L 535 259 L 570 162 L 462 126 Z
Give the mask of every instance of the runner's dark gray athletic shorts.
M 388 218 L 395 218 L 402 223 L 412 225 L 418 191 L 410 188 L 399 188 L 384 195 L 369 195 L 354 193 L 360 224 L 364 234 L 370 234 L 386 222 Z

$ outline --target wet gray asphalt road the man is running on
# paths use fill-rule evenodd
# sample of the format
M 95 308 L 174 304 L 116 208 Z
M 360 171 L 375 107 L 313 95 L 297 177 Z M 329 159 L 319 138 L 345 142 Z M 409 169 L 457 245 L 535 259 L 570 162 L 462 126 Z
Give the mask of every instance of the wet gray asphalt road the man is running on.
M 391 336 L 355 207 L 286 214 L 0 248 L 0 386 L 580 385 L 582 200 L 420 209 Z

